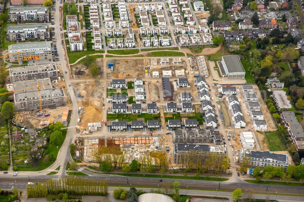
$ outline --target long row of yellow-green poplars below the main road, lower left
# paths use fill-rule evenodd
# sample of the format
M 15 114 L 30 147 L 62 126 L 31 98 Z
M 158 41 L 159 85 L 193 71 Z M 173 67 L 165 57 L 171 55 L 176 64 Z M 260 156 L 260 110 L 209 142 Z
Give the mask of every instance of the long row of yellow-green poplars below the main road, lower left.
M 98 180 L 69 176 L 58 180 L 50 179 L 46 183 L 27 185 L 26 193 L 29 198 L 46 197 L 47 194 L 59 193 L 106 196 L 108 194 L 108 184 L 106 179 Z

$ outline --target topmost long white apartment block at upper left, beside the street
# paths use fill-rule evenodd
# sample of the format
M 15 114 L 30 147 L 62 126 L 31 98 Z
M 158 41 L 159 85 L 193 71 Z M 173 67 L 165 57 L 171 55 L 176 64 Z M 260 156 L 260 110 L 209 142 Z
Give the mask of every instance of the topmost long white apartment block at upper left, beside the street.
M 49 10 L 44 6 L 10 6 L 9 22 L 49 22 Z

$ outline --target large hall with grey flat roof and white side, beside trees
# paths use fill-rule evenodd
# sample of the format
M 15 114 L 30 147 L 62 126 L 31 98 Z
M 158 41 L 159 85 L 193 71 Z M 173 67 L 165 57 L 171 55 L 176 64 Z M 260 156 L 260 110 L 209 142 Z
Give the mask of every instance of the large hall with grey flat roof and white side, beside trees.
M 217 61 L 222 77 L 244 78 L 245 70 L 239 56 L 222 56 L 221 61 Z

